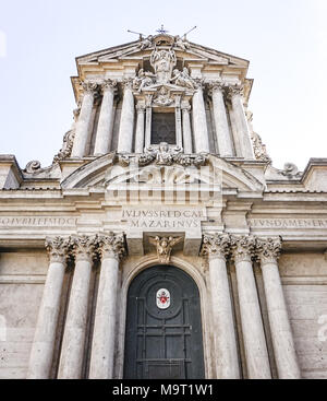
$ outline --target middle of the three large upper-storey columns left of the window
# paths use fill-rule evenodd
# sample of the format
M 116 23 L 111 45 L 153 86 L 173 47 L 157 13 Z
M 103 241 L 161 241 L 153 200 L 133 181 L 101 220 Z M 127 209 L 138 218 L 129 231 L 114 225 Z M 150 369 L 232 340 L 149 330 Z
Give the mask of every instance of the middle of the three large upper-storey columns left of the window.
M 101 84 L 104 97 L 94 149 L 95 155 L 106 154 L 110 150 L 113 122 L 113 96 L 116 86 L 117 81 L 112 80 L 105 80 Z

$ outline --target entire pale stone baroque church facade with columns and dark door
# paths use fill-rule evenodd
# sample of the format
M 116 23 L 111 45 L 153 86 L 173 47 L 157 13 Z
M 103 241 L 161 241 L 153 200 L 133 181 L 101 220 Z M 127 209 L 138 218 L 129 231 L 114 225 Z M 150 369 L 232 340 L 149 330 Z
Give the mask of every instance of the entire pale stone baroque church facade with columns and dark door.
M 52 165 L 0 155 L 0 378 L 327 378 L 327 160 L 272 166 L 249 61 L 76 64 Z

